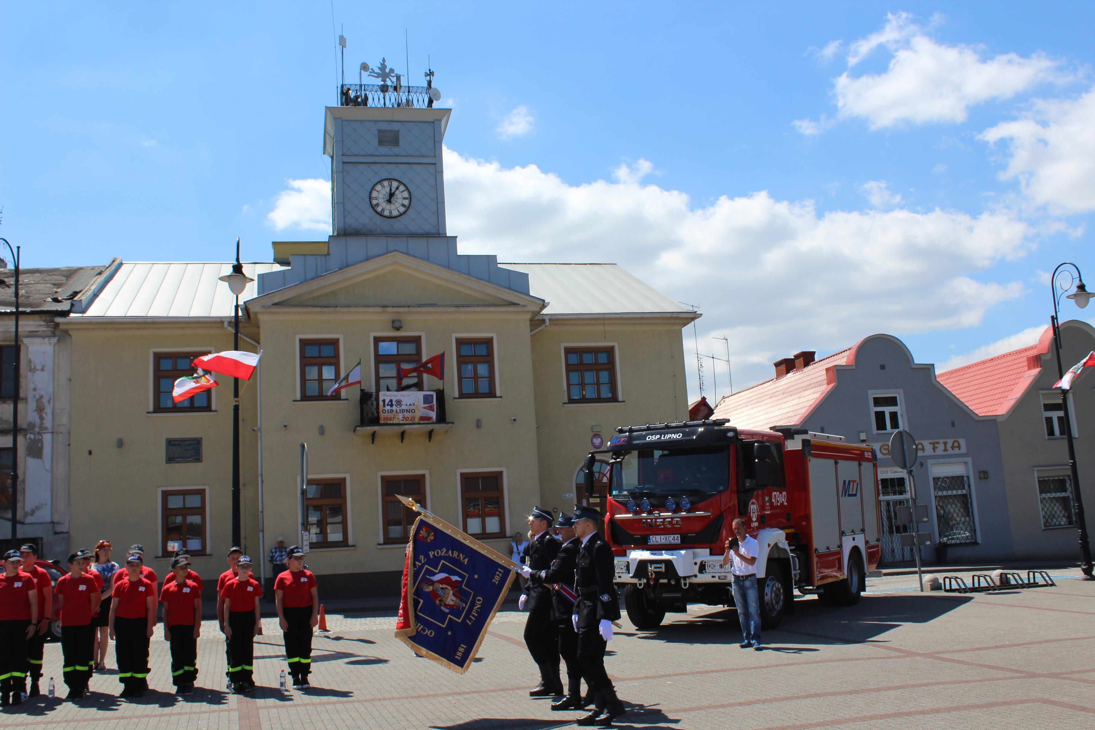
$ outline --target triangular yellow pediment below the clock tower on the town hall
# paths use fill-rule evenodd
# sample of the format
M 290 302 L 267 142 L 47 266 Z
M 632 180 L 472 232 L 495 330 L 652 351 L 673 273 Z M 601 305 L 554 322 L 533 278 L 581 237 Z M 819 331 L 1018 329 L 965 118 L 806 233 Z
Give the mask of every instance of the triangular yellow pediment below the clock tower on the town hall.
M 542 308 L 528 294 L 392 253 L 286 287 L 249 302 L 260 308 L 519 306 Z

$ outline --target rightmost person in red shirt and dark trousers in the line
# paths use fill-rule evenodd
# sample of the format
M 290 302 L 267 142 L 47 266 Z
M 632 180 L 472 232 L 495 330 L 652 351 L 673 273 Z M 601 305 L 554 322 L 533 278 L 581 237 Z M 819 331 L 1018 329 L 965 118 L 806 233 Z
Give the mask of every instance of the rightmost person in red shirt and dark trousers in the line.
M 320 623 L 320 594 L 315 576 L 304 570 L 304 551 L 293 545 L 286 559 L 289 569 L 274 580 L 274 602 L 285 633 L 285 656 L 292 684 L 307 687 L 312 671 L 312 629 Z

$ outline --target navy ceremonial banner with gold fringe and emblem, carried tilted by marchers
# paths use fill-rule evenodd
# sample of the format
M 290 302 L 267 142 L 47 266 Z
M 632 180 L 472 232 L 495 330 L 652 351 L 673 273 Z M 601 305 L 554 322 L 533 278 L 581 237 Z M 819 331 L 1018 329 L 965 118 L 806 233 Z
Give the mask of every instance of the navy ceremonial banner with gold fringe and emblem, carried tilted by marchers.
M 403 567 L 395 636 L 415 653 L 463 674 L 514 580 L 516 564 L 417 509 Z

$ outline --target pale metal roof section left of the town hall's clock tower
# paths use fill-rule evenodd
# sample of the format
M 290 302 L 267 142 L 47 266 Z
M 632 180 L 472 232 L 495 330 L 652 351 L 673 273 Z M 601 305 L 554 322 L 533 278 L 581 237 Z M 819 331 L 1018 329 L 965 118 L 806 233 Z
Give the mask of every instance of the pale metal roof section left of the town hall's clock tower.
M 252 279 L 284 268 L 251 263 L 243 271 Z M 120 265 L 95 301 L 73 317 L 227 317 L 232 316 L 232 292 L 218 280 L 232 270 L 231 262 L 128 262 Z M 255 296 L 255 282 L 240 301 Z

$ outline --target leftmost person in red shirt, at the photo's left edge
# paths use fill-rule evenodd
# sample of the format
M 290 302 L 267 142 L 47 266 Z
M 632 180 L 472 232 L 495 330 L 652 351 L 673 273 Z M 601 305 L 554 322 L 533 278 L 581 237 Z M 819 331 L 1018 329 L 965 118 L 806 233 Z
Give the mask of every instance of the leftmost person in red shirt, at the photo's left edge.
M 26 641 L 37 629 L 38 591 L 21 572 L 19 551 L 8 551 L 0 573 L 0 707 L 23 704 L 26 688 Z

